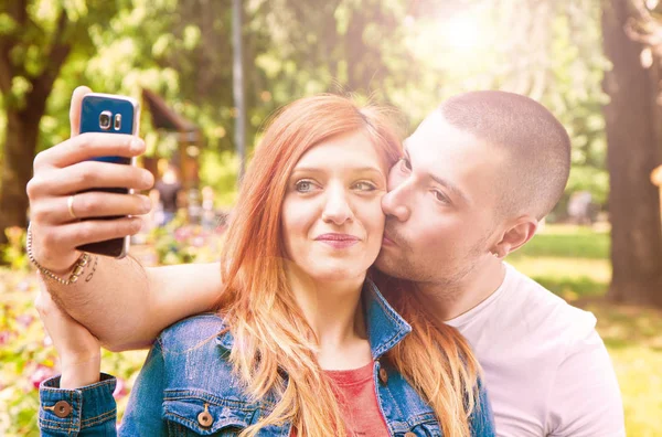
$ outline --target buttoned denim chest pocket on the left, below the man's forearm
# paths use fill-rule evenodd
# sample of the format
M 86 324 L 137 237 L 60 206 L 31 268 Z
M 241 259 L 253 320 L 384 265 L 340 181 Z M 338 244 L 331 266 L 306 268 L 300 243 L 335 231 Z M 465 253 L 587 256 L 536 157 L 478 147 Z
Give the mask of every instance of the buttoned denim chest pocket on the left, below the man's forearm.
M 257 407 L 200 392 L 166 393 L 163 419 L 172 436 L 236 436 L 252 424 Z

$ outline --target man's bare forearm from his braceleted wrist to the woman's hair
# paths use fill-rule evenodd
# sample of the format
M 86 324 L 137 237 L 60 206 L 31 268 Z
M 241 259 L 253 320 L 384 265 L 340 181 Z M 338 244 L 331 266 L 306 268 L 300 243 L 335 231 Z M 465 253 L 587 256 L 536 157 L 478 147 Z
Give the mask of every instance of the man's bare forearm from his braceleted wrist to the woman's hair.
M 209 310 L 221 286 L 218 263 L 145 268 L 100 256 L 88 283 L 46 280 L 58 305 L 111 351 L 149 347 L 163 328 Z

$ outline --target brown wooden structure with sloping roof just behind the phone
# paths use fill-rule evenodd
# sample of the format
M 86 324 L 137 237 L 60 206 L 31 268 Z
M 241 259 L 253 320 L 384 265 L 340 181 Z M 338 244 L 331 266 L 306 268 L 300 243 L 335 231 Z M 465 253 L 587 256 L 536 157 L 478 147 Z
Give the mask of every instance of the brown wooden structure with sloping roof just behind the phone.
M 185 190 L 197 188 L 200 184 L 199 157 L 202 148 L 200 128 L 188 118 L 177 114 L 166 100 L 150 89 L 142 89 L 142 108 L 151 116 L 152 126 L 177 136 L 178 152 L 170 162 L 180 170 L 180 180 Z M 142 164 L 152 172 L 154 179 L 160 177 L 159 159 L 161 157 L 143 157 Z

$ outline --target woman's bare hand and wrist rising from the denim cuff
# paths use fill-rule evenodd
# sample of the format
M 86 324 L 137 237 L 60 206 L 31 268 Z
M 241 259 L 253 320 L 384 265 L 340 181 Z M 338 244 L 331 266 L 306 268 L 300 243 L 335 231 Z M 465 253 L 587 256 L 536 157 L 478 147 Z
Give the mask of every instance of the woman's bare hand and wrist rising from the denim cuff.
M 98 382 L 102 363 L 99 341 L 53 301 L 43 279 L 40 285 L 34 306 L 60 355 L 60 387 L 77 388 Z

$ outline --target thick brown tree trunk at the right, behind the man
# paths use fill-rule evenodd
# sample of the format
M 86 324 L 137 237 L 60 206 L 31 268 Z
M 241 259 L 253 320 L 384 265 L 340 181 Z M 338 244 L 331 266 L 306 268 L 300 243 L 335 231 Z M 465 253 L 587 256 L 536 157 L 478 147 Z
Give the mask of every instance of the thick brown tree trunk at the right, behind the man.
M 637 18 L 630 0 L 604 0 L 604 49 L 613 65 L 604 79 L 611 98 L 604 108 L 613 269 L 608 297 L 662 307 L 660 200 L 650 182 L 660 163 L 655 126 L 662 119 L 656 83 L 641 65 L 643 45 L 624 31 L 628 20 Z

